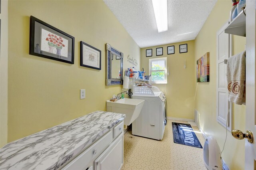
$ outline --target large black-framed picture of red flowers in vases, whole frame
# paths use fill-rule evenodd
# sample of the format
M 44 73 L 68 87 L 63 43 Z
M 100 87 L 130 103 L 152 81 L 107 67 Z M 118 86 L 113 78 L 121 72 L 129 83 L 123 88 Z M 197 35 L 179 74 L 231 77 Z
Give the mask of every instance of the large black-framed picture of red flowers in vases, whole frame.
M 74 64 L 74 41 L 73 36 L 30 16 L 30 55 Z

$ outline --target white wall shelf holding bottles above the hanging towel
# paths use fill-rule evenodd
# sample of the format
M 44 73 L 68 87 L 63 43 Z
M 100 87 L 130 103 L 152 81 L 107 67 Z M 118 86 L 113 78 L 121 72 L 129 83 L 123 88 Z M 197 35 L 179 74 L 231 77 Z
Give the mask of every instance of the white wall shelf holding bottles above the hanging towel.
M 246 13 L 246 8 L 244 9 L 244 12 Z M 225 33 L 243 37 L 246 36 L 246 16 L 244 15 L 244 12 L 241 11 L 238 16 L 228 24 Z

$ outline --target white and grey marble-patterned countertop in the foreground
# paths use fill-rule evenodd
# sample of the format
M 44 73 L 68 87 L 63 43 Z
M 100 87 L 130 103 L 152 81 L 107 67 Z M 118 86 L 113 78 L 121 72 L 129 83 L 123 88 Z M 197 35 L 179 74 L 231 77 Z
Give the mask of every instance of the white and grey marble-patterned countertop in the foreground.
M 124 118 L 96 111 L 8 143 L 0 149 L 0 169 L 58 169 Z

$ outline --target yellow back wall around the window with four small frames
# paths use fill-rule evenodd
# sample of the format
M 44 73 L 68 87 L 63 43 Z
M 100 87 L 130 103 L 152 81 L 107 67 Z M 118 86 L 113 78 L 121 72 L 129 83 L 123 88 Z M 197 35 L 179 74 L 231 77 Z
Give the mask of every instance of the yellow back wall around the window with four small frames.
M 179 45 L 188 44 L 188 52 L 180 53 Z M 167 47 L 174 45 L 174 54 L 167 55 Z M 163 55 L 156 56 L 156 48 L 163 47 Z M 146 49 L 152 48 L 152 57 L 146 57 Z M 140 67 L 144 68 L 146 75 L 149 73 L 148 60 L 152 58 L 167 57 L 167 67 L 170 75 L 167 76 L 167 84 L 156 84 L 166 94 L 167 117 L 182 119 L 194 119 L 194 40 L 172 43 L 154 47 L 146 47 L 140 50 Z M 186 69 L 184 62 L 186 60 Z

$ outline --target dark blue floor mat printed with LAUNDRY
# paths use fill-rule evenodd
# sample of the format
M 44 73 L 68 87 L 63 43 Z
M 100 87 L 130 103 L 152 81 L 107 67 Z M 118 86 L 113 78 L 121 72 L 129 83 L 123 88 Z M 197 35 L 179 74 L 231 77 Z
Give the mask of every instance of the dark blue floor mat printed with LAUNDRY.
M 174 143 L 203 148 L 190 124 L 172 122 Z

